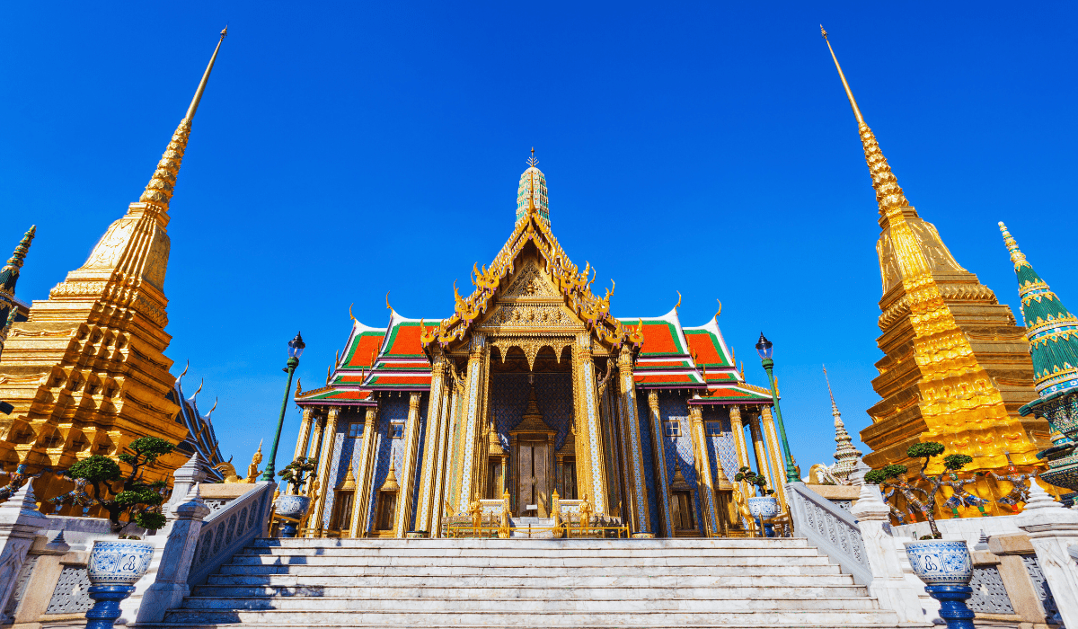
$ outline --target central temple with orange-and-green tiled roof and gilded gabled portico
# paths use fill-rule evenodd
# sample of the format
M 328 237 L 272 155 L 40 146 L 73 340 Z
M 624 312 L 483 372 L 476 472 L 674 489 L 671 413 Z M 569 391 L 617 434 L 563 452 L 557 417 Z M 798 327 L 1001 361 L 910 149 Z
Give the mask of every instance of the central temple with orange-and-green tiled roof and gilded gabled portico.
M 614 287 L 594 293 L 590 264 L 551 231 L 534 159 L 512 234 L 471 276 L 447 318 L 387 301 L 385 327 L 353 319 L 326 386 L 296 389 L 295 457 L 317 461 L 308 534 L 438 536 L 506 508 L 516 522 L 585 510 L 637 536 L 734 535 L 751 495 L 732 480 L 742 466 L 785 505 L 771 392 L 735 367 L 719 313 L 696 327 L 677 306 L 611 316 Z

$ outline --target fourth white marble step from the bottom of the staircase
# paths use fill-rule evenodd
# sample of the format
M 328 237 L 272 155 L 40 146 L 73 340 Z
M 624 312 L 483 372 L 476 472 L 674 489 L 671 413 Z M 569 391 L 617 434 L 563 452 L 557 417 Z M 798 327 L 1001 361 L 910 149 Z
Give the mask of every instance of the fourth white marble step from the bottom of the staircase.
M 788 572 L 776 571 L 775 574 L 734 574 L 729 576 L 705 575 L 604 575 L 589 577 L 573 576 L 550 576 L 529 575 L 496 577 L 489 576 L 454 576 L 452 580 L 431 579 L 428 575 L 395 574 L 389 576 L 353 575 L 348 577 L 329 577 L 322 575 L 299 576 L 294 574 L 272 574 L 272 575 L 247 575 L 247 574 L 215 574 L 210 575 L 206 586 L 261 586 L 272 590 L 282 588 L 304 588 L 312 590 L 312 593 L 304 596 L 319 596 L 318 588 L 327 588 L 340 585 L 351 587 L 393 587 L 412 588 L 427 586 L 443 587 L 538 587 L 547 589 L 566 589 L 583 587 L 639 587 L 639 588 L 667 588 L 667 587 L 706 587 L 706 588 L 731 588 L 731 587 L 820 587 L 831 588 L 839 586 L 853 586 L 853 577 L 848 574 L 840 574 L 838 570 L 830 574 L 789 574 Z M 281 596 L 288 596 L 282 591 Z

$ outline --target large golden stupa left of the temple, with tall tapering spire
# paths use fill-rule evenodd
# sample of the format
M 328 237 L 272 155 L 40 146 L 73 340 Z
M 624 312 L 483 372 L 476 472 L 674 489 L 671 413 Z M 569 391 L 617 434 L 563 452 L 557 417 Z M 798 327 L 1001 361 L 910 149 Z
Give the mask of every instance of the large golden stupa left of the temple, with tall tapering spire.
M 171 340 L 165 332 L 165 228 L 191 124 L 224 36 L 138 202 L 109 227 L 85 264 L 49 299 L 33 301 L 28 320 L 11 329 L 0 357 L 0 399 L 14 407 L 0 415 L 5 471 L 25 464 L 36 474 L 92 454 L 115 456 L 142 436 L 172 443 L 188 438 L 186 423 L 177 419 L 172 361 L 164 355 Z M 188 455 L 181 449 L 162 456 L 144 479 L 170 480 Z M 69 486 L 50 474 L 34 491 L 46 498 Z

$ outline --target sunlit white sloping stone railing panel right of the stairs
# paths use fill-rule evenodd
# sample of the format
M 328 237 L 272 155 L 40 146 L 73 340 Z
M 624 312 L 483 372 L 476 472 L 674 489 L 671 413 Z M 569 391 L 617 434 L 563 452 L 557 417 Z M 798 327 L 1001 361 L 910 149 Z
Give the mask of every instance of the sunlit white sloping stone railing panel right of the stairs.
M 857 520 L 831 501 L 805 487 L 803 482 L 786 486 L 793 536 L 805 537 L 826 552 L 861 585 L 872 583 L 872 569 L 865 552 L 865 542 Z

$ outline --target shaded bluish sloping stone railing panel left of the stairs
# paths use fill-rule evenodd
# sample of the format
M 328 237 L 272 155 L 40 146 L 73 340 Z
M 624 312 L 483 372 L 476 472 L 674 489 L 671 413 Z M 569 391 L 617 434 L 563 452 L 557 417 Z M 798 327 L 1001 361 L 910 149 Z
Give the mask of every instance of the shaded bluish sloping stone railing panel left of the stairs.
M 265 481 L 248 487 L 252 489 L 203 520 L 191 560 L 191 572 L 188 573 L 188 585 L 203 583 L 233 555 L 257 537 L 268 534 L 266 527 L 276 484 Z

